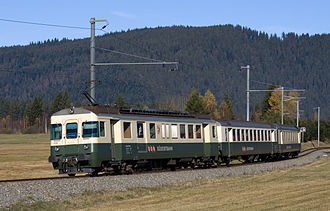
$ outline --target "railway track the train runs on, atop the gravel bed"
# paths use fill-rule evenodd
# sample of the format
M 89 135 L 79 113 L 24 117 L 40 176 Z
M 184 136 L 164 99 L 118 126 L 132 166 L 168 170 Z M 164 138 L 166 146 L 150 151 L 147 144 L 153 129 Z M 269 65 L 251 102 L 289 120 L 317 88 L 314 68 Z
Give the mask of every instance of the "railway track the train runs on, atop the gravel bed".
M 330 147 L 319 147 L 319 148 L 309 148 L 309 149 L 305 149 L 305 150 L 302 150 L 299 155 L 298 155 L 298 158 L 301 158 L 301 157 L 304 157 L 304 156 L 307 156 L 313 152 L 316 152 L 318 150 L 323 150 L 323 149 L 330 149 Z M 283 159 L 284 160 L 284 159 Z M 278 160 L 278 161 L 275 161 L 275 162 L 279 162 L 279 161 L 283 161 L 283 160 Z M 231 164 L 230 167 L 228 168 L 231 168 L 231 167 L 239 167 L 239 166 L 244 166 L 244 165 L 254 165 L 254 164 L 258 164 L 258 163 L 264 163 L 262 161 L 260 162 L 252 162 L 252 163 L 234 163 L 234 164 Z M 218 167 L 225 167 L 225 165 L 221 165 L 221 166 L 218 166 Z M 216 167 L 214 167 L 216 168 Z M 190 171 L 192 170 L 192 168 L 184 168 L 184 169 L 176 169 L 177 171 Z M 153 170 L 153 171 L 138 171 L 138 172 L 134 172 L 134 174 L 149 174 L 149 173 L 161 173 L 161 172 L 168 172 L 170 170 L 167 170 L 167 169 L 156 169 L 156 170 Z M 102 177 L 102 176 L 108 176 L 109 174 L 106 174 L 106 173 L 103 173 L 103 174 L 99 174 L 98 177 Z M 0 184 L 1 183 L 8 183 L 8 182 L 25 182 L 25 181 L 42 181 L 42 180 L 62 180 L 62 179 L 78 179 L 78 178 L 83 178 L 83 177 L 90 177 L 90 175 L 77 175 L 75 177 L 70 177 L 70 176 L 61 176 L 61 177 L 44 177 L 44 178 L 28 178 L 28 179 L 13 179 L 13 180 L 1 180 L 0 181 Z

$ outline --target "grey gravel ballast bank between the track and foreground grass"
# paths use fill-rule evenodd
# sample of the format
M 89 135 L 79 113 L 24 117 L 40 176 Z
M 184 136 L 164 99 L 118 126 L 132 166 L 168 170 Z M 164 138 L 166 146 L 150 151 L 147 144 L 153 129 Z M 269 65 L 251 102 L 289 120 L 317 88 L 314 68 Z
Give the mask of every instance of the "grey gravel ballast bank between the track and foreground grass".
M 57 180 L 3 182 L 0 183 L 0 208 L 5 208 L 18 201 L 33 203 L 54 199 L 70 199 L 82 192 L 102 190 L 126 190 L 130 187 L 156 187 L 198 179 L 211 179 L 236 175 L 256 175 L 262 172 L 286 169 L 312 163 L 327 156 L 330 150 L 319 150 L 307 156 L 270 163 L 245 166 L 199 169 L 177 172 L 156 172 L 133 175 L 82 177 Z

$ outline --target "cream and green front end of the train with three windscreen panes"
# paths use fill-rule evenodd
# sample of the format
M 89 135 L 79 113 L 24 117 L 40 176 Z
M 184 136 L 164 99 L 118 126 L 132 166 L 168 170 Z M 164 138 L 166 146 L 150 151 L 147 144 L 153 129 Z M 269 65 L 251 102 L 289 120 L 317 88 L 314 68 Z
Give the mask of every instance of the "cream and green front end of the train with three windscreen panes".
M 59 174 L 74 176 L 99 171 L 101 147 L 98 142 L 104 134 L 102 123 L 95 113 L 83 108 L 63 109 L 52 115 L 48 161 Z

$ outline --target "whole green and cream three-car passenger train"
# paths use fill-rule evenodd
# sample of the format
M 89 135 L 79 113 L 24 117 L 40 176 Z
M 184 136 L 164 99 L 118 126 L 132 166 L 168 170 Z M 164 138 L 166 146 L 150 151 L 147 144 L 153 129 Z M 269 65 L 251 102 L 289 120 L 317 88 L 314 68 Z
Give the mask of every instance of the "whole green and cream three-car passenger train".
M 59 174 L 209 168 L 296 157 L 302 130 L 182 111 L 89 105 L 51 116 L 48 161 Z

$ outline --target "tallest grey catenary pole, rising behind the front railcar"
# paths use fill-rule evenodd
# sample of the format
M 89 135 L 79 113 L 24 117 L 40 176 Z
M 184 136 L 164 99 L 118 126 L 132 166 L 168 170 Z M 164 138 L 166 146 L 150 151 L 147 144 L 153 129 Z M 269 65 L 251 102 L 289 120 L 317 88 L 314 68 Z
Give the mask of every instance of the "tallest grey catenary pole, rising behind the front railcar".
M 102 27 L 104 29 L 107 25 L 109 25 L 109 22 L 107 20 L 95 20 L 95 18 L 91 18 L 91 44 L 90 44 L 90 52 L 91 52 L 91 97 L 92 101 L 96 103 L 95 100 L 95 22 L 106 22 L 106 24 Z

